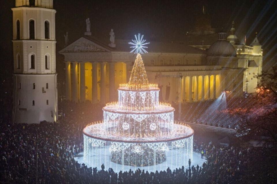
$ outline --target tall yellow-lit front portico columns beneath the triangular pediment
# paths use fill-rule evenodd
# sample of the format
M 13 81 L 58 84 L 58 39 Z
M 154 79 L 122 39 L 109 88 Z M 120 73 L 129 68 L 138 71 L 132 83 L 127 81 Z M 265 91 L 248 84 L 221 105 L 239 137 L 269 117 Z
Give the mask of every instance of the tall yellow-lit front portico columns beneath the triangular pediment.
M 70 68 L 70 63 L 72 67 Z M 78 64 L 79 81 L 78 84 Z M 92 62 L 92 103 L 98 102 L 98 62 Z M 106 103 L 106 66 L 109 65 L 109 101 L 115 101 L 115 62 L 100 62 L 100 103 Z M 72 71 L 72 74 L 71 74 Z M 72 85 L 72 86 L 71 86 Z M 78 102 L 86 100 L 85 62 L 65 62 L 66 99 Z M 80 97 L 80 98 L 79 98 Z

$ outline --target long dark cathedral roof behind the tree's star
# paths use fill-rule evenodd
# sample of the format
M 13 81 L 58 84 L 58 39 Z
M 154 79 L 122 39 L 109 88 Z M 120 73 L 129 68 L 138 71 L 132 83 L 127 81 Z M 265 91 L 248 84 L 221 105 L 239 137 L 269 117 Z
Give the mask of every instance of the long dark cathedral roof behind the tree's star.
M 131 42 L 132 40 L 115 39 L 116 47 L 109 47 L 108 44 L 110 43 L 110 41 L 108 38 L 99 39 L 99 38 L 96 38 L 93 36 L 83 36 L 81 38 L 85 38 L 85 39 L 87 39 L 93 43 L 96 43 L 97 45 L 100 45 L 110 51 L 121 51 L 121 52 L 122 51 L 130 52 L 131 51 L 130 44 L 128 44 L 128 42 Z M 74 44 L 74 42 L 72 44 Z M 68 46 L 70 46 L 70 45 L 68 45 Z M 190 46 L 180 44 L 180 43 L 151 41 L 150 44 L 147 46 L 148 46 L 148 48 L 146 49 L 147 52 L 200 53 L 200 54 L 205 53 L 204 50 L 190 47 Z M 62 49 L 62 50 L 64 50 L 64 49 Z

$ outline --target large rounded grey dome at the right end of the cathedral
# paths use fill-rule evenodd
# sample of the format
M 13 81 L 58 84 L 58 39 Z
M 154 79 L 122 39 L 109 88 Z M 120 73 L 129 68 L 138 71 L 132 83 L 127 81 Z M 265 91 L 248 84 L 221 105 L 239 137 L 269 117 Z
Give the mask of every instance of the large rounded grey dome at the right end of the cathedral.
M 218 40 L 210 46 L 207 56 L 236 57 L 237 53 L 231 43 L 224 40 Z

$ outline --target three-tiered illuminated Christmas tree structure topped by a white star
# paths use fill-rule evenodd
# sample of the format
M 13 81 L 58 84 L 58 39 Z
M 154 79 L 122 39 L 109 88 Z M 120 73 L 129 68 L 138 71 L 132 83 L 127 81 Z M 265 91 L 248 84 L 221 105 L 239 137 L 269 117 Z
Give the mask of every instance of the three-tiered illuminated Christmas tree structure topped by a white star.
M 92 167 L 104 164 L 119 170 L 148 171 L 179 168 L 192 160 L 194 131 L 174 122 L 174 108 L 159 102 L 158 85 L 149 84 L 141 57 L 145 40 L 135 35 L 130 42 L 137 54 L 127 84 L 118 88 L 118 102 L 106 104 L 104 120 L 84 130 L 84 162 Z

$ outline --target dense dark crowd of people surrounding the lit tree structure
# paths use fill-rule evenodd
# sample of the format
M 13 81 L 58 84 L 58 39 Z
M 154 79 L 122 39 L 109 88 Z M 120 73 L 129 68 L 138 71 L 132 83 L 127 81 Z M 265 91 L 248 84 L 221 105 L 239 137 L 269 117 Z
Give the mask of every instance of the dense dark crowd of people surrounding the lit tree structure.
M 2 124 L 0 135 L 0 183 L 239 183 L 254 148 L 222 147 L 194 140 L 204 152 L 202 165 L 167 168 L 148 173 L 137 169 L 115 173 L 112 168 L 93 168 L 74 160 L 83 151 L 82 130 L 102 119 L 100 106 L 60 105 L 58 122 Z M 74 107 L 74 109 L 73 109 Z

